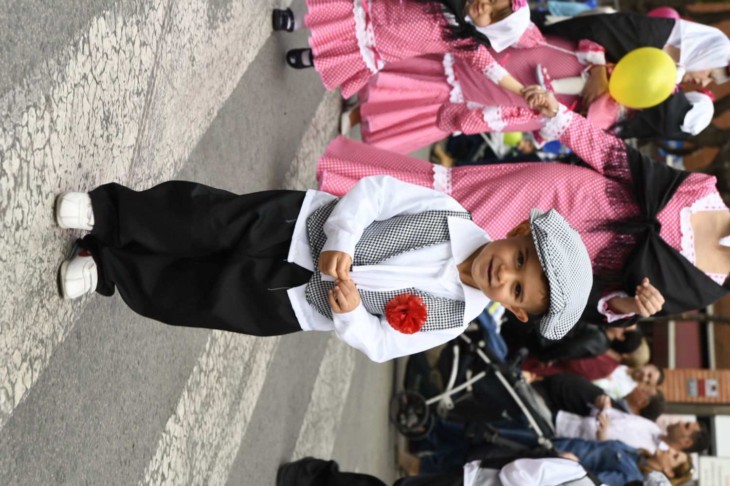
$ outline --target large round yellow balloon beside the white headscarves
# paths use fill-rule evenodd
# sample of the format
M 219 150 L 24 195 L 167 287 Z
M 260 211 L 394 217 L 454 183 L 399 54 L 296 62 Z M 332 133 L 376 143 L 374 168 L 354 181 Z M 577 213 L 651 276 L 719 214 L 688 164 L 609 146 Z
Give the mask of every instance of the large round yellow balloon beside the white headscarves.
M 631 108 L 660 104 L 675 90 L 675 61 L 656 47 L 639 47 L 616 64 L 608 82 L 613 99 Z

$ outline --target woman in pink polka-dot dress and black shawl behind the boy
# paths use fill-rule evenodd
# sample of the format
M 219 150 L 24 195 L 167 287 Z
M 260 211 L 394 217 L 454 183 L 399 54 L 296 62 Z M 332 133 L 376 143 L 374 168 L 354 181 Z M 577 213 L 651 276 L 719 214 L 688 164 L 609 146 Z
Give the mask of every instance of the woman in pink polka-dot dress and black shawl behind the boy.
M 360 177 L 389 174 L 450 194 L 498 238 L 510 229 L 504 222 L 527 209 L 555 208 L 583 236 L 593 262 L 587 322 L 631 325 L 639 315 L 687 312 L 725 296 L 730 249 L 722 245 L 728 244 L 730 211 L 715 177 L 652 161 L 548 96 L 536 136 L 558 139 L 590 168 L 447 168 L 340 138 L 328 148 L 331 157 L 319 161 L 320 190 L 343 193 Z

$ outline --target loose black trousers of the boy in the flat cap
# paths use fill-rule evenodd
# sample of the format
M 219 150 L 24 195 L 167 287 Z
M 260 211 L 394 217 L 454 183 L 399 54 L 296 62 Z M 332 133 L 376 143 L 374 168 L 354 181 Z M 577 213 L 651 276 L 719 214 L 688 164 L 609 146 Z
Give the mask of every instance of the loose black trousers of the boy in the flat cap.
M 90 193 L 94 227 L 80 240 L 96 261 L 96 291 L 115 288 L 141 315 L 172 325 L 254 336 L 300 331 L 286 289 L 312 272 L 287 263 L 304 193 L 237 196 L 195 182 Z

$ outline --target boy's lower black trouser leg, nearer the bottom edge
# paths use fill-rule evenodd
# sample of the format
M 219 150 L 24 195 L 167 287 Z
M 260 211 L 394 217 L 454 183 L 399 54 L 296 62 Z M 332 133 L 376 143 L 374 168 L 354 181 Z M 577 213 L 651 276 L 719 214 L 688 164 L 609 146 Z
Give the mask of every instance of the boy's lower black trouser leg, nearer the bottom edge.
M 89 245 L 87 236 L 82 242 Z M 278 255 L 245 255 L 237 250 L 177 258 L 155 255 L 137 244 L 123 248 L 93 245 L 99 273 L 96 291 L 118 290 L 135 312 L 171 325 L 274 336 L 301 328 L 287 289 L 312 273 Z

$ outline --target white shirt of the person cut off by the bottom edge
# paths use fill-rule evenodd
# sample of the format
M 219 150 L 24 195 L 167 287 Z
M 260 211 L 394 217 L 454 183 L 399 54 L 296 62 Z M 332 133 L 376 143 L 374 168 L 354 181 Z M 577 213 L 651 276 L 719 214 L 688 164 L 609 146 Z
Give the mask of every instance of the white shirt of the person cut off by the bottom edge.
M 464 486 L 557 486 L 585 477 L 585 469 L 564 458 L 517 459 L 498 469 L 482 469 L 475 460 L 464 466 Z

